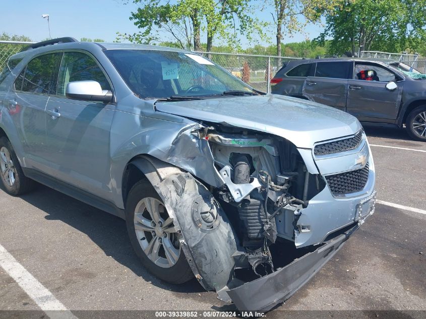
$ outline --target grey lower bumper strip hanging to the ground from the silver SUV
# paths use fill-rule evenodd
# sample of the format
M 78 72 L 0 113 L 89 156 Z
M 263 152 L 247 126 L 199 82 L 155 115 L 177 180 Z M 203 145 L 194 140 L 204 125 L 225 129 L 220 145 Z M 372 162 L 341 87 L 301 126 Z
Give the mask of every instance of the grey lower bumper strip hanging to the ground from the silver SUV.
M 228 290 L 228 295 L 240 311 L 270 310 L 307 283 L 358 228 L 359 224 L 354 225 L 317 250 L 307 253 L 274 273 Z

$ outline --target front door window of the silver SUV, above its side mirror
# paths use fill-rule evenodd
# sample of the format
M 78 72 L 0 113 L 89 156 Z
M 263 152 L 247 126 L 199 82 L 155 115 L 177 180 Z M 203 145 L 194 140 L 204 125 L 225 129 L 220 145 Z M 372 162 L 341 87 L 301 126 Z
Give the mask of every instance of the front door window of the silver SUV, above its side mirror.
M 91 56 L 82 52 L 65 52 L 59 70 L 57 95 L 65 96 L 70 82 L 89 80 L 98 82 L 102 90 L 111 90 L 104 73 Z

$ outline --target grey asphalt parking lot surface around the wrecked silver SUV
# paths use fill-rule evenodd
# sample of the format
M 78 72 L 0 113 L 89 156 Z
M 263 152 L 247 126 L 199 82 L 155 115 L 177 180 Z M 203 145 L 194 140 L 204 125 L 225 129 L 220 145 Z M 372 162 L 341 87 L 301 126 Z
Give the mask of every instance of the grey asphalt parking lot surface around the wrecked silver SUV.
M 365 128 L 378 199 L 408 208 L 377 204 L 336 256 L 268 317 L 282 317 L 280 310 L 426 316 L 426 214 L 409 210 L 426 211 L 426 143 L 396 129 Z M 173 286 L 156 279 L 140 266 L 123 220 L 41 185 L 21 198 L 0 191 L 0 245 L 79 318 L 90 316 L 80 310 L 233 309 L 196 280 Z M 1 267 L 0 310 L 39 310 Z

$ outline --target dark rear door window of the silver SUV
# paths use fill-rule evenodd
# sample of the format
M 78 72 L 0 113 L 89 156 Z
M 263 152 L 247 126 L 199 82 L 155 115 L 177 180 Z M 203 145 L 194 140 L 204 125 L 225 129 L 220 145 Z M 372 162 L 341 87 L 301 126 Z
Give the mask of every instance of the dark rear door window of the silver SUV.
M 50 53 L 32 59 L 15 82 L 15 88 L 29 93 L 56 94 L 56 76 L 61 56 L 62 53 Z

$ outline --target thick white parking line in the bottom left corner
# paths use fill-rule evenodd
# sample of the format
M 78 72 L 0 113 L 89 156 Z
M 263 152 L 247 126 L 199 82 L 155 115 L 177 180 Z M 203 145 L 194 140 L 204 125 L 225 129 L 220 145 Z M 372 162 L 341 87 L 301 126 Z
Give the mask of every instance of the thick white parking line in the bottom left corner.
M 54 318 L 77 319 L 74 314 L 60 303 L 53 294 L 34 278 L 18 261 L 0 244 L 0 266 L 46 314 Z M 57 311 L 62 310 L 62 311 Z

